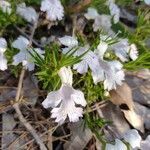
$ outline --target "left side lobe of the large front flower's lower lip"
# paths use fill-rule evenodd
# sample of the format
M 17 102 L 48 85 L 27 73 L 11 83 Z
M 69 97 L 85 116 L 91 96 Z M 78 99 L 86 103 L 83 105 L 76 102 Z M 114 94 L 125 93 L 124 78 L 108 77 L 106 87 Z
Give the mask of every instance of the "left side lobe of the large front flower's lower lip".
M 49 107 L 56 107 L 59 105 L 59 103 L 61 102 L 61 95 L 58 91 L 54 91 L 54 92 L 50 92 L 47 95 L 47 98 L 42 102 L 42 105 L 44 108 L 49 108 Z

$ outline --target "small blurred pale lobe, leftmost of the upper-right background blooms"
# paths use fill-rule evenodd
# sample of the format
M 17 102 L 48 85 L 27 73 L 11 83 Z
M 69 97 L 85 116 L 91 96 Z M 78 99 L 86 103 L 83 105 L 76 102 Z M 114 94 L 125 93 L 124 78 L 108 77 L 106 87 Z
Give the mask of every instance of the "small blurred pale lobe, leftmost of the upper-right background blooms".
M 95 8 L 88 8 L 88 12 L 86 14 L 84 14 L 86 19 L 88 19 L 88 20 L 95 19 L 98 15 L 99 14 Z

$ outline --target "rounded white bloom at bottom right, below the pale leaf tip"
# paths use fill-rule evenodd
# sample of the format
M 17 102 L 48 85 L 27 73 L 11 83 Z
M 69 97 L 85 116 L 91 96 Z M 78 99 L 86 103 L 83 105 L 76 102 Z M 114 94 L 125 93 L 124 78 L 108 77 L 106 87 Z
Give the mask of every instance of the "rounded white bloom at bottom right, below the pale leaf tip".
M 137 130 L 129 130 L 127 133 L 125 133 L 123 138 L 126 142 L 128 142 L 131 145 L 133 149 L 140 148 L 141 136 L 139 135 Z

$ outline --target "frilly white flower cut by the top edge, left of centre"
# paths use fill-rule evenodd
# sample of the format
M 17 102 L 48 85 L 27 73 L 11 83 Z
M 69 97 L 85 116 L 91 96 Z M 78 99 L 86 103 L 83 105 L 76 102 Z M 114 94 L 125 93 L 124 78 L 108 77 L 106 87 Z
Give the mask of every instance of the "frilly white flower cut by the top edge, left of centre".
M 62 20 L 64 16 L 64 8 L 60 0 L 42 0 L 41 11 L 46 12 L 46 18 L 51 21 Z

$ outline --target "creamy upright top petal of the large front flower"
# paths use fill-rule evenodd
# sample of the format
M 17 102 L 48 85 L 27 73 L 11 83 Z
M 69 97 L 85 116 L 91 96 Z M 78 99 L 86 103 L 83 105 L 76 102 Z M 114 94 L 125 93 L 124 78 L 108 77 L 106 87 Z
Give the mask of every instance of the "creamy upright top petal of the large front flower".
M 58 75 L 61 79 L 62 84 L 68 84 L 72 86 L 73 74 L 70 67 L 62 67 L 59 70 Z

